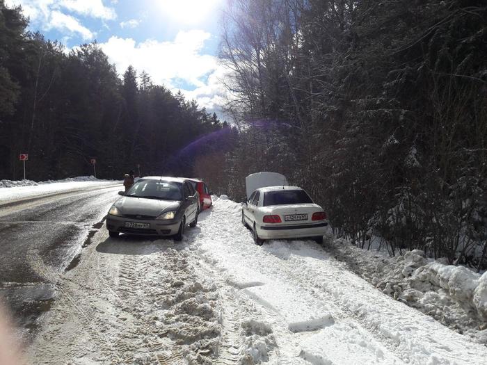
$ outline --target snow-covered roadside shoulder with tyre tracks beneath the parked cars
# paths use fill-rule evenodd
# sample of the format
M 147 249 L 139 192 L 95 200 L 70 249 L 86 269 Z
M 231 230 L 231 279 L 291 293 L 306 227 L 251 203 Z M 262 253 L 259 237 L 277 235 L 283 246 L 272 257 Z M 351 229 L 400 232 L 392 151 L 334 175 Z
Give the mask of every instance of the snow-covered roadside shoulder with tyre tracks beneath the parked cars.
M 35 364 L 485 364 L 487 348 L 384 295 L 311 241 L 262 247 L 217 200 L 182 243 L 104 227 L 51 272 Z

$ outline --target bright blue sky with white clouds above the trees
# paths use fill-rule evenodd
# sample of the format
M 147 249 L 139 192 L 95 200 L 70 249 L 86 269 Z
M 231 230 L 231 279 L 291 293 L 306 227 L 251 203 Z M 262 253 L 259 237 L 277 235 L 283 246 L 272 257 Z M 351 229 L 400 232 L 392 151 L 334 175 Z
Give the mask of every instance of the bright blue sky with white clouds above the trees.
M 6 0 L 30 29 L 67 49 L 97 40 L 122 74 L 129 65 L 154 83 L 219 111 L 218 22 L 225 0 Z

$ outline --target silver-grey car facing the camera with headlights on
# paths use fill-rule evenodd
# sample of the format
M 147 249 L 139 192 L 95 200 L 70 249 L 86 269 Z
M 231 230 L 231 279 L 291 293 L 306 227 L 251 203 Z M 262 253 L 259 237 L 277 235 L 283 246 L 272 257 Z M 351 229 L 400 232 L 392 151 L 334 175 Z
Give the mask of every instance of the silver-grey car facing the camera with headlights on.
M 174 236 L 181 241 L 186 225 L 198 223 L 200 197 L 191 181 L 175 177 L 138 179 L 106 216 L 111 237 L 120 233 Z

